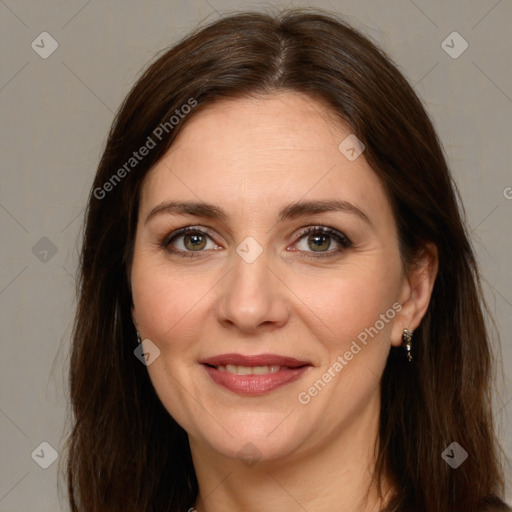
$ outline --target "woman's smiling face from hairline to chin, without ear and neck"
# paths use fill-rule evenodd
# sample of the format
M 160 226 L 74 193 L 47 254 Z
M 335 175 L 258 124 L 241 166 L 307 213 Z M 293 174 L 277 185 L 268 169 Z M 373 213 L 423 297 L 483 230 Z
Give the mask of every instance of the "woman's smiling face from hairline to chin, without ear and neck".
M 410 287 L 389 201 L 349 135 L 297 93 L 223 101 L 144 182 L 133 317 L 194 446 L 291 460 L 377 424 Z

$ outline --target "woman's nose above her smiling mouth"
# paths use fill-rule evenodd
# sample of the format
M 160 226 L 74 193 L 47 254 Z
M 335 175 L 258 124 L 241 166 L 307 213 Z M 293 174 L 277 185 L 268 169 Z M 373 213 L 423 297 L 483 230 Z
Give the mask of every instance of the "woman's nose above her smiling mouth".
M 288 322 L 288 288 L 268 260 L 265 251 L 252 263 L 233 255 L 233 268 L 219 283 L 216 309 L 224 327 L 244 333 L 270 332 Z

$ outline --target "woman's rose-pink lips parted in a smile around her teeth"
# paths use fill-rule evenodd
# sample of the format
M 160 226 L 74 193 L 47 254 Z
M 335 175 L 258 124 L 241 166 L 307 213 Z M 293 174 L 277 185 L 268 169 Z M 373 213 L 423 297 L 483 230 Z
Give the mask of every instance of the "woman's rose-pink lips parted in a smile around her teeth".
M 294 357 L 276 354 L 260 354 L 244 356 L 241 354 L 222 354 L 200 361 L 211 379 L 222 386 L 240 395 L 259 396 L 270 393 L 286 384 L 299 379 L 304 372 L 311 368 L 311 363 L 300 361 Z M 278 372 L 265 375 L 234 375 L 226 371 L 219 371 L 216 366 L 280 366 Z

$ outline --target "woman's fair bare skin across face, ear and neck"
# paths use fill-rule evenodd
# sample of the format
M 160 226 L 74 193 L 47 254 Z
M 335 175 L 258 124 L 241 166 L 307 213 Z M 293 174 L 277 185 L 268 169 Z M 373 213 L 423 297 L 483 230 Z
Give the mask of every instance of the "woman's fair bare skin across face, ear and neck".
M 142 187 L 132 315 L 142 338 L 160 350 L 147 367 L 155 390 L 189 435 L 200 487 L 195 508 L 378 510 L 382 503 L 368 489 L 380 379 L 391 346 L 402 344 L 403 329 L 414 330 L 427 309 L 435 248 L 426 246 L 405 273 L 377 175 L 364 153 L 349 161 L 340 152 L 350 130 L 317 100 L 291 92 L 223 100 L 183 128 Z M 295 201 L 330 199 L 355 205 L 369 223 L 339 211 L 278 219 Z M 145 222 L 171 200 L 213 203 L 227 218 L 161 213 Z M 210 236 L 200 251 L 186 236 L 171 247 L 197 257 L 162 245 L 185 226 Z M 308 245 L 315 233 L 300 236 L 309 226 L 331 227 L 353 245 L 328 237 L 315 251 Z M 252 263 L 236 252 L 249 236 L 262 250 Z M 299 393 L 394 303 L 400 312 L 366 346 L 359 343 L 361 351 L 309 403 L 300 403 Z M 288 355 L 312 367 L 275 391 L 240 396 L 215 384 L 198 363 L 228 352 Z M 260 457 L 251 467 L 237 457 L 247 443 Z M 386 491 L 392 487 L 385 482 Z

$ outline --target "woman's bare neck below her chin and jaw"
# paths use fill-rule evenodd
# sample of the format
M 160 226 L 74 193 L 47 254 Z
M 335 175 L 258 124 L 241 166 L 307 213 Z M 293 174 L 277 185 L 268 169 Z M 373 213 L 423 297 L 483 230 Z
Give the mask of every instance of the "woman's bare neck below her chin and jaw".
M 369 404 L 370 405 L 370 404 Z M 377 512 L 392 491 L 383 482 L 379 496 L 372 474 L 376 460 L 378 405 L 367 407 L 358 421 L 333 432 L 314 449 L 294 450 L 293 458 L 259 461 L 252 467 L 219 455 L 190 439 L 199 483 L 197 512 L 297 510 Z M 297 453 L 301 453 L 297 455 Z

